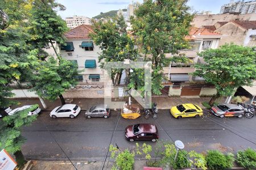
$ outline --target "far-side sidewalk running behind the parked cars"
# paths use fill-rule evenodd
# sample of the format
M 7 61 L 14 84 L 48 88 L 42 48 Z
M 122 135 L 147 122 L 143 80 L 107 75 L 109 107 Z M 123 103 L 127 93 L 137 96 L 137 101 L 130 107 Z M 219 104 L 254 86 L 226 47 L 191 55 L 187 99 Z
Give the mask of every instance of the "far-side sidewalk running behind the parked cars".
M 40 103 L 40 100 L 38 98 L 16 98 L 14 99 L 16 101 L 19 101 L 20 105 L 32 105 L 32 104 L 39 104 L 40 108 L 43 109 L 42 104 Z M 193 103 L 199 105 L 201 108 L 204 108 L 201 104 L 203 101 L 209 101 L 210 97 L 201 97 L 201 98 L 183 98 L 183 97 L 164 97 L 164 96 L 153 96 L 152 102 L 155 102 L 158 104 L 158 109 L 170 109 L 171 107 L 183 103 Z M 113 99 L 114 101 L 114 99 Z M 118 101 L 128 101 L 128 99 L 118 100 Z M 61 105 L 60 99 L 57 99 L 55 101 L 47 101 L 45 100 L 47 109 L 43 109 L 43 111 L 52 111 L 55 107 Z M 136 104 L 137 101 L 132 100 L 133 104 Z M 95 104 L 104 103 L 103 98 L 79 98 L 79 99 L 73 99 L 71 102 L 72 104 L 77 104 L 81 107 L 82 110 L 87 110 L 90 107 L 92 107 Z M 14 106 L 13 108 L 18 107 Z

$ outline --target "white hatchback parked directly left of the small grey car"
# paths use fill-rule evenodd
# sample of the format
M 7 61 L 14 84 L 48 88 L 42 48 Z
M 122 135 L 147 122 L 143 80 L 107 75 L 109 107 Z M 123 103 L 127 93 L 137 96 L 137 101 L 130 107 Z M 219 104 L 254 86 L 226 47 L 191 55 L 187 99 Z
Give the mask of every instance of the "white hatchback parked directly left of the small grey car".
M 64 104 L 60 107 L 56 107 L 51 111 L 49 114 L 52 118 L 56 117 L 70 117 L 74 118 L 76 117 L 79 112 L 81 111 L 81 108 L 79 105 L 76 104 Z

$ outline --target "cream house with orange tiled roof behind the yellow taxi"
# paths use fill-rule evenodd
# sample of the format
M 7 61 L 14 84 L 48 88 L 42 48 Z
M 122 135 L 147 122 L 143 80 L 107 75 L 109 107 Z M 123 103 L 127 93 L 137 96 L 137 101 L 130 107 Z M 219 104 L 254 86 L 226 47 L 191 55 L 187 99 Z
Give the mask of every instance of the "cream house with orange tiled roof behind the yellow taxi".
M 180 51 L 188 57 L 189 63 L 174 63 L 163 67 L 166 80 L 163 82 L 163 94 L 168 92 L 169 96 L 204 96 L 216 93 L 214 87 L 207 86 L 204 79 L 192 76 L 195 71 L 195 63 L 204 63 L 204 59 L 197 56 L 197 52 L 206 49 L 216 49 L 222 35 L 207 28 L 192 27 L 189 36 L 185 39 L 189 41 L 191 48 Z M 171 54 L 167 54 L 171 57 Z

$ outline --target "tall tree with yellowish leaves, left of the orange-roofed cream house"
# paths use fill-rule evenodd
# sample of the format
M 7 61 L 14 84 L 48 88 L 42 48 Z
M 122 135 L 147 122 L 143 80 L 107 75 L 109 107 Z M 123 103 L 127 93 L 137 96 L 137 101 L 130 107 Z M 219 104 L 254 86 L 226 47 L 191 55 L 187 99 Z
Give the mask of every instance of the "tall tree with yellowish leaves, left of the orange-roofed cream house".
M 188 48 L 185 36 L 189 33 L 193 15 L 189 13 L 187 0 L 147 0 L 135 10 L 131 24 L 144 58 L 152 61 L 154 73 L 152 82 L 156 83 L 155 94 L 161 94 L 163 66 L 171 61 L 187 62 L 179 50 Z M 167 58 L 171 53 L 172 58 Z M 147 60 L 147 59 L 145 59 Z

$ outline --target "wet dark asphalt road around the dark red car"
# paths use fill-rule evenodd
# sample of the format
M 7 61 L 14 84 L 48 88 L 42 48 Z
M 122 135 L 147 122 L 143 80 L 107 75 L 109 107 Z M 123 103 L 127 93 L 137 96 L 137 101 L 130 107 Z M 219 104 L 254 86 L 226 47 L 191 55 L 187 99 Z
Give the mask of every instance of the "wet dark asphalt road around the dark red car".
M 125 120 L 118 111 L 113 111 L 109 118 L 87 119 L 84 112 L 74 119 L 53 119 L 49 112 L 42 112 L 38 120 L 23 130 L 27 138 L 23 154 L 28 159 L 103 160 L 110 142 L 121 149 L 135 147 L 135 142 L 125 140 L 124 130 L 127 125 L 137 123 L 155 124 L 161 140 L 181 140 L 185 150 L 236 152 L 256 148 L 256 117 L 218 118 L 205 111 L 200 118 L 177 120 L 169 110 L 160 110 L 156 120 L 152 117 L 146 120 L 143 114 L 135 120 Z M 146 143 L 155 146 L 153 142 Z

